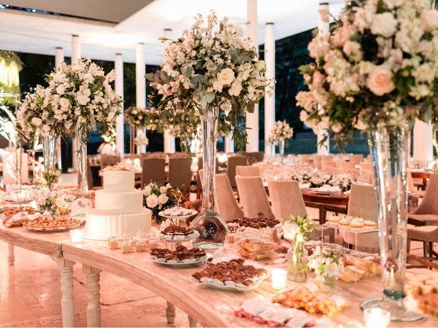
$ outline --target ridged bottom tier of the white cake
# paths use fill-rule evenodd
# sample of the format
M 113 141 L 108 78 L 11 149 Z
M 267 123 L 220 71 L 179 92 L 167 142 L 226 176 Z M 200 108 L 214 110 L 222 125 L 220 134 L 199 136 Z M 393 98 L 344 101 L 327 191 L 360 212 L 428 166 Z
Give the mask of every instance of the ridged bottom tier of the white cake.
M 152 212 L 148 208 L 130 214 L 114 214 L 93 208 L 86 214 L 83 238 L 103 241 L 112 236 L 149 232 L 151 221 Z

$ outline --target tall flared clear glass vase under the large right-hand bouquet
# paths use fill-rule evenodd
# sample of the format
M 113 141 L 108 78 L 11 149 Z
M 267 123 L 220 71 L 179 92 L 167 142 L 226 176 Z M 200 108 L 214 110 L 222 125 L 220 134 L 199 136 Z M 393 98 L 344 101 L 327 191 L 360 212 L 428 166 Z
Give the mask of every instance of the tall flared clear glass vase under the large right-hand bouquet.
M 407 141 L 409 128 L 379 126 L 368 133 L 378 202 L 378 239 L 383 298 L 367 299 L 361 308 L 379 307 L 394 321 L 416 321 L 422 316 L 404 307 L 404 273 L 407 253 Z

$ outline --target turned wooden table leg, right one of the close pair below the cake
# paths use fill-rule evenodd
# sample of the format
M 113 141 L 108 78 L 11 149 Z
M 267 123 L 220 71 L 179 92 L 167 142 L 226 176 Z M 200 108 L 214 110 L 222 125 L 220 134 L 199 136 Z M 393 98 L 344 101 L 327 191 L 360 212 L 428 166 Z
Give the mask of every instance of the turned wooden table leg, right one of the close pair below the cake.
M 99 285 L 101 270 L 83 264 L 82 271 L 87 278 L 87 326 L 101 327 L 101 286 Z

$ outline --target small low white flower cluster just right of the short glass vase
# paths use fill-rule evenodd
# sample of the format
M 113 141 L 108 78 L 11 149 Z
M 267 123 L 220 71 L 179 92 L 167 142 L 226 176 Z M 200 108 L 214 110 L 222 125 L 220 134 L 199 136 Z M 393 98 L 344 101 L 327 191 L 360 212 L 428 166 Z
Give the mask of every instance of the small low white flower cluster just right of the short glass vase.
M 342 258 L 333 253 L 326 253 L 321 246 L 315 247 L 313 254 L 309 256 L 307 267 L 315 271 L 316 277 L 324 279 L 326 284 L 331 287 L 335 286 L 335 280 L 339 279 L 339 273 L 344 270 Z

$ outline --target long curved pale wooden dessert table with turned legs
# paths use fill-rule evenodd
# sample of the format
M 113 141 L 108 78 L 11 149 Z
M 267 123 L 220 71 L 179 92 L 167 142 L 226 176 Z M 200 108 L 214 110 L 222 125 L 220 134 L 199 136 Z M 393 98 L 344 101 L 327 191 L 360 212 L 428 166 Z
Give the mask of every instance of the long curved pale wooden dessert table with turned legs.
M 144 288 L 155 292 L 168 302 L 177 306 L 190 316 L 190 325 L 196 325 L 196 321 L 205 327 L 253 327 L 255 323 L 243 318 L 237 318 L 233 310 L 248 298 L 262 295 L 270 299 L 274 290 L 270 286 L 270 279 L 261 283 L 259 288 L 250 292 L 229 292 L 198 286 L 190 280 L 190 275 L 200 270 L 199 267 L 183 267 L 174 269 L 162 264 L 156 264 L 149 258 L 149 252 L 133 252 L 122 254 L 120 249 L 110 250 L 106 241 L 87 241 L 70 243 L 66 232 L 41 233 L 31 232 L 25 228 L 0 228 L 0 239 L 14 245 L 25 247 L 33 251 L 51 256 L 58 256 L 59 260 L 67 262 L 71 286 L 62 282 L 62 315 L 73 313 L 73 274 L 71 269 L 75 262 L 83 265 L 86 273 L 88 292 L 87 320 L 89 327 L 100 325 L 100 286 L 99 274 L 107 271 L 130 280 Z M 235 254 L 233 245 L 227 246 L 224 253 Z M 62 256 L 62 257 L 59 257 Z M 265 263 L 266 269 L 272 268 L 272 264 Z M 430 273 L 425 269 L 412 269 L 409 272 Z M 296 284 L 287 282 L 287 286 Z M 357 283 L 336 282 L 333 290 L 336 295 L 348 301 L 348 307 L 335 314 L 332 320 L 335 323 L 351 325 L 352 320 L 363 323 L 363 314 L 359 304 L 365 297 L 378 297 L 382 294 L 382 282 L 378 277 L 363 279 Z M 68 299 L 64 297 L 68 296 Z M 66 302 L 68 301 L 68 302 Z M 64 303 L 72 306 L 68 308 Z M 169 304 L 170 305 L 170 304 Z M 70 312 L 70 313 L 69 313 Z M 172 305 L 166 310 L 168 320 L 175 316 L 175 308 Z M 73 326 L 71 321 L 63 321 L 64 326 Z M 428 319 L 415 323 L 415 327 L 437 326 L 438 320 Z M 409 327 L 412 324 L 391 323 L 391 327 Z

